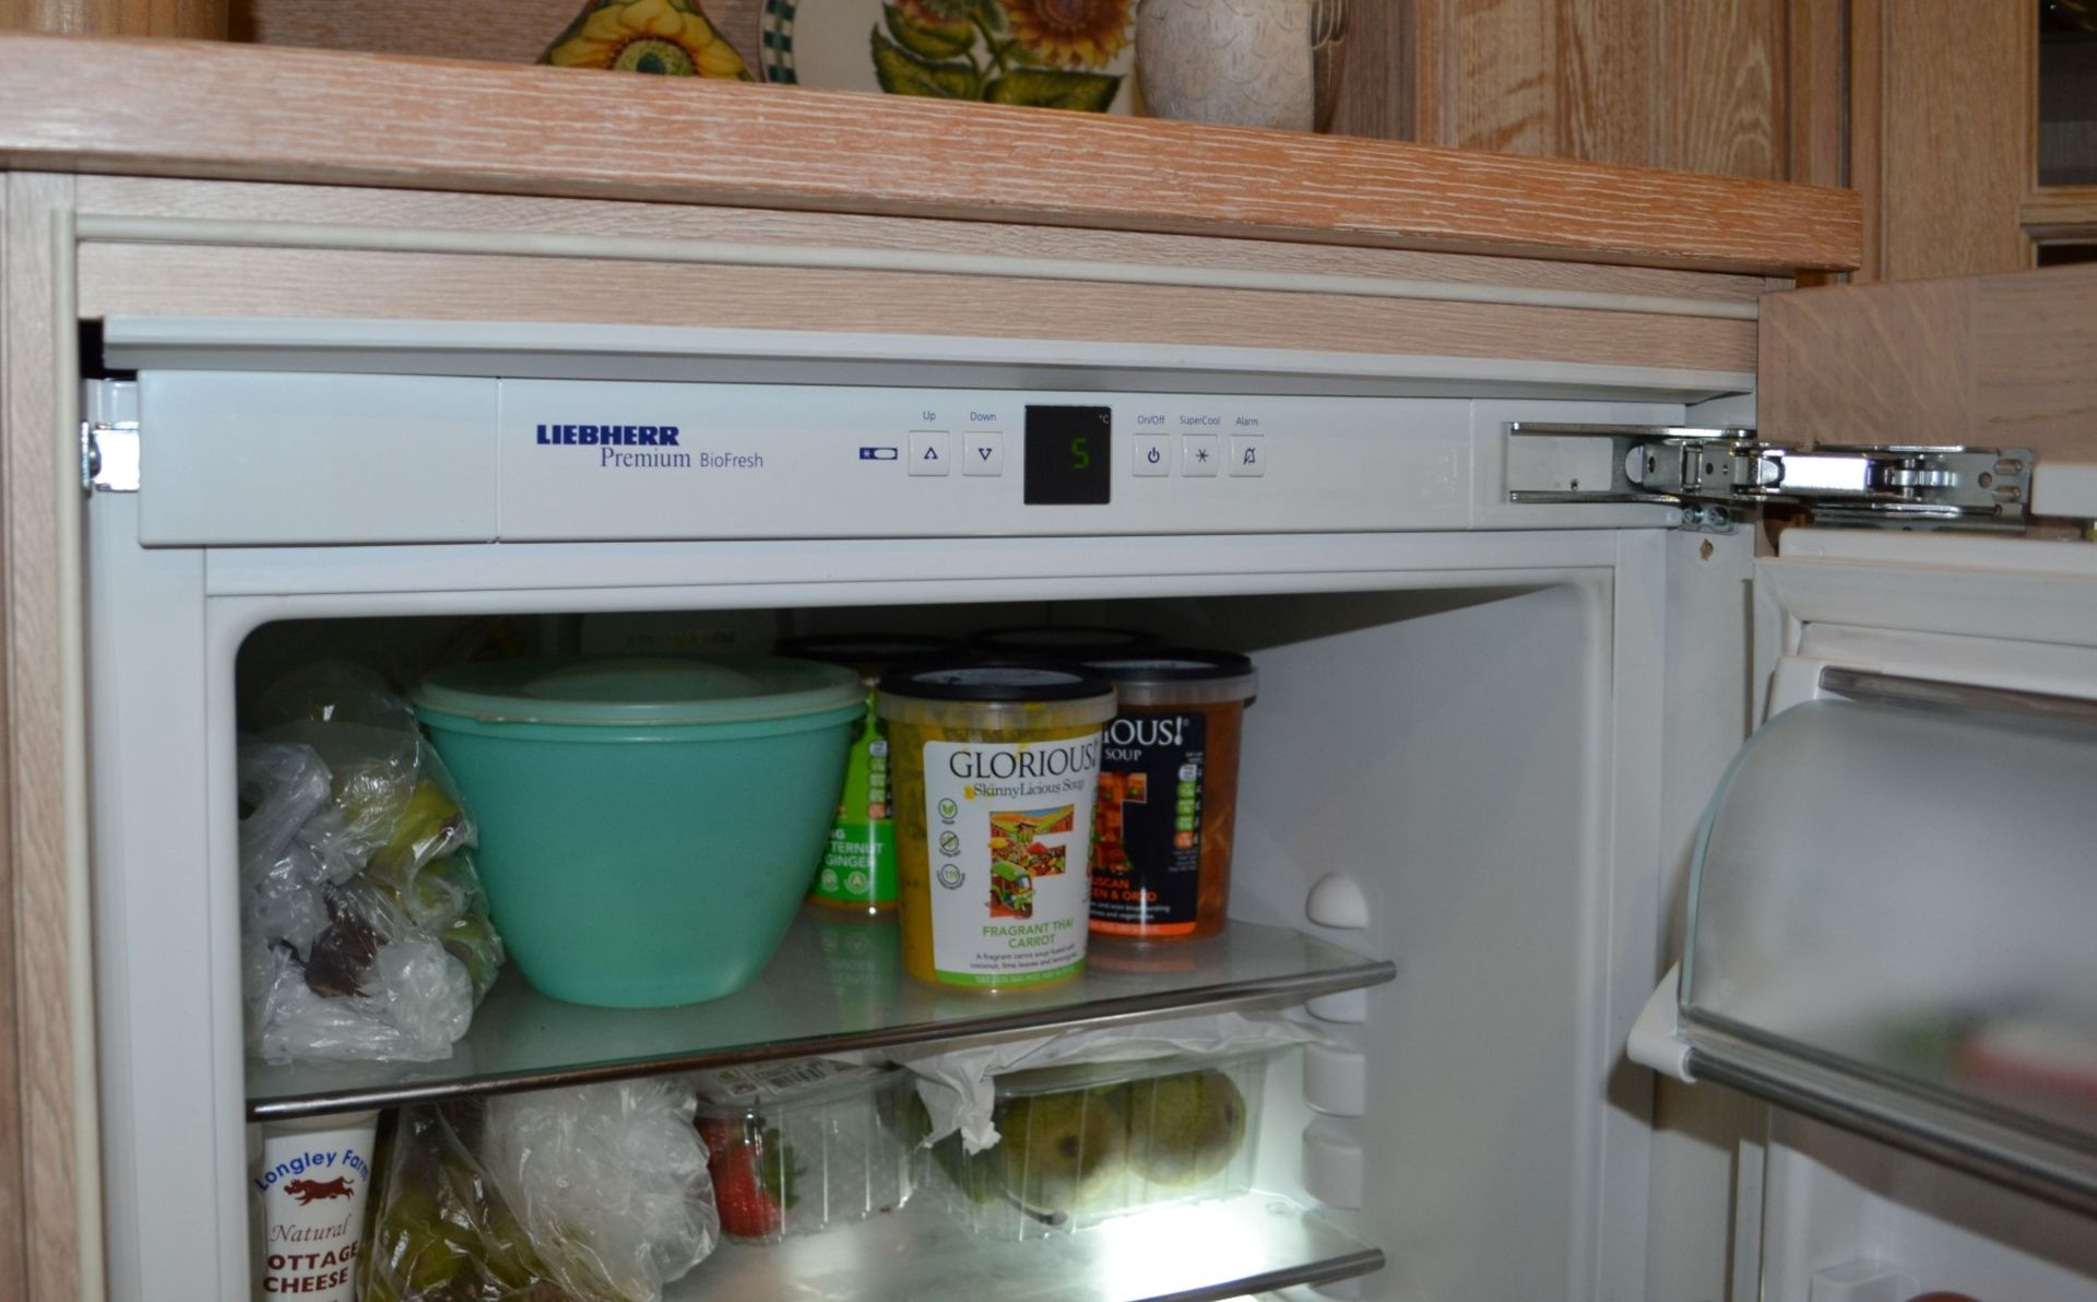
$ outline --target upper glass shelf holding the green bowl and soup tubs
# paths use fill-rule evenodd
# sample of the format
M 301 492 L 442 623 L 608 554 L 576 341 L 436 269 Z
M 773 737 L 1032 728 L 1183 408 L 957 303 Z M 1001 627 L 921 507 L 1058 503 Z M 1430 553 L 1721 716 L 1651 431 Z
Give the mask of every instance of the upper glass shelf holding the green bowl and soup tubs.
M 682 1008 L 585 1008 L 505 973 L 440 1063 L 247 1063 L 247 1115 L 300 1117 L 585 1080 L 881 1048 L 990 1032 L 1300 1002 L 1397 975 L 1285 927 L 1231 923 L 1181 946 L 1095 941 L 1084 977 L 1021 994 L 967 994 L 902 973 L 893 923 L 803 910 L 749 990 Z

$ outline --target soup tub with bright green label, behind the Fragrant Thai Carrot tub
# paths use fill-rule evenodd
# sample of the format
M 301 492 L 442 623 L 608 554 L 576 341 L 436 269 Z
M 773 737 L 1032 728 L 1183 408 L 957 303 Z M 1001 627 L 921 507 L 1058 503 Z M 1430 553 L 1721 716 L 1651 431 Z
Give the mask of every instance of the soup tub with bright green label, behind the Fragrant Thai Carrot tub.
M 874 683 L 895 665 L 954 656 L 952 637 L 902 633 L 822 633 L 788 637 L 774 648 L 782 656 L 843 665 L 866 683 L 866 719 L 851 738 L 845 788 L 837 797 L 837 822 L 822 847 L 816 885 L 807 897 L 824 908 L 853 914 L 895 910 L 895 824 L 889 786 L 889 732 L 874 715 Z

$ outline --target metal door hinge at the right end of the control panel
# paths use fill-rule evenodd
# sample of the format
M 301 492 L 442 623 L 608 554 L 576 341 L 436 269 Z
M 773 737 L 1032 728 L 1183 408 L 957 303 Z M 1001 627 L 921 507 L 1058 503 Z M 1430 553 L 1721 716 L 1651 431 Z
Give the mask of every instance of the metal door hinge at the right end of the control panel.
M 1797 503 L 1852 524 L 2015 528 L 2032 495 L 2032 453 L 1977 447 L 1816 447 L 1761 442 L 1741 428 L 1545 426 L 1510 436 L 1608 438 L 1606 489 L 1516 489 L 1510 501 L 1640 501 L 1684 507 L 1711 528 L 1728 507 Z

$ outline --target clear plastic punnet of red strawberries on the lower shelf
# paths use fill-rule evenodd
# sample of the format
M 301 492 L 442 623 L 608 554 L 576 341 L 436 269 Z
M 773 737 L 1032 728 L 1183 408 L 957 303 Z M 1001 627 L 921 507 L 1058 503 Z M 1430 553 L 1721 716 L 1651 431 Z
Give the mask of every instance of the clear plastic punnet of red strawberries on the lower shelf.
M 916 1153 L 902 1126 L 912 1082 L 828 1059 L 694 1076 L 721 1233 L 778 1243 L 910 1201 Z

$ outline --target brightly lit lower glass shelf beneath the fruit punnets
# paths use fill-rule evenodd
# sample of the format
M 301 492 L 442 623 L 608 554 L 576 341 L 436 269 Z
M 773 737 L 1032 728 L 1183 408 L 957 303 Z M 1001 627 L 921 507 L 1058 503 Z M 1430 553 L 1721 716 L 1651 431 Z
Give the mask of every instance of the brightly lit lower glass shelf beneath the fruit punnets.
M 1376 1247 L 1271 1193 L 1153 1208 L 1074 1235 L 1025 1241 L 977 1235 L 935 1208 L 912 1203 L 807 1239 L 723 1245 L 673 1283 L 667 1302 L 1202 1302 L 1332 1283 L 1382 1266 Z

